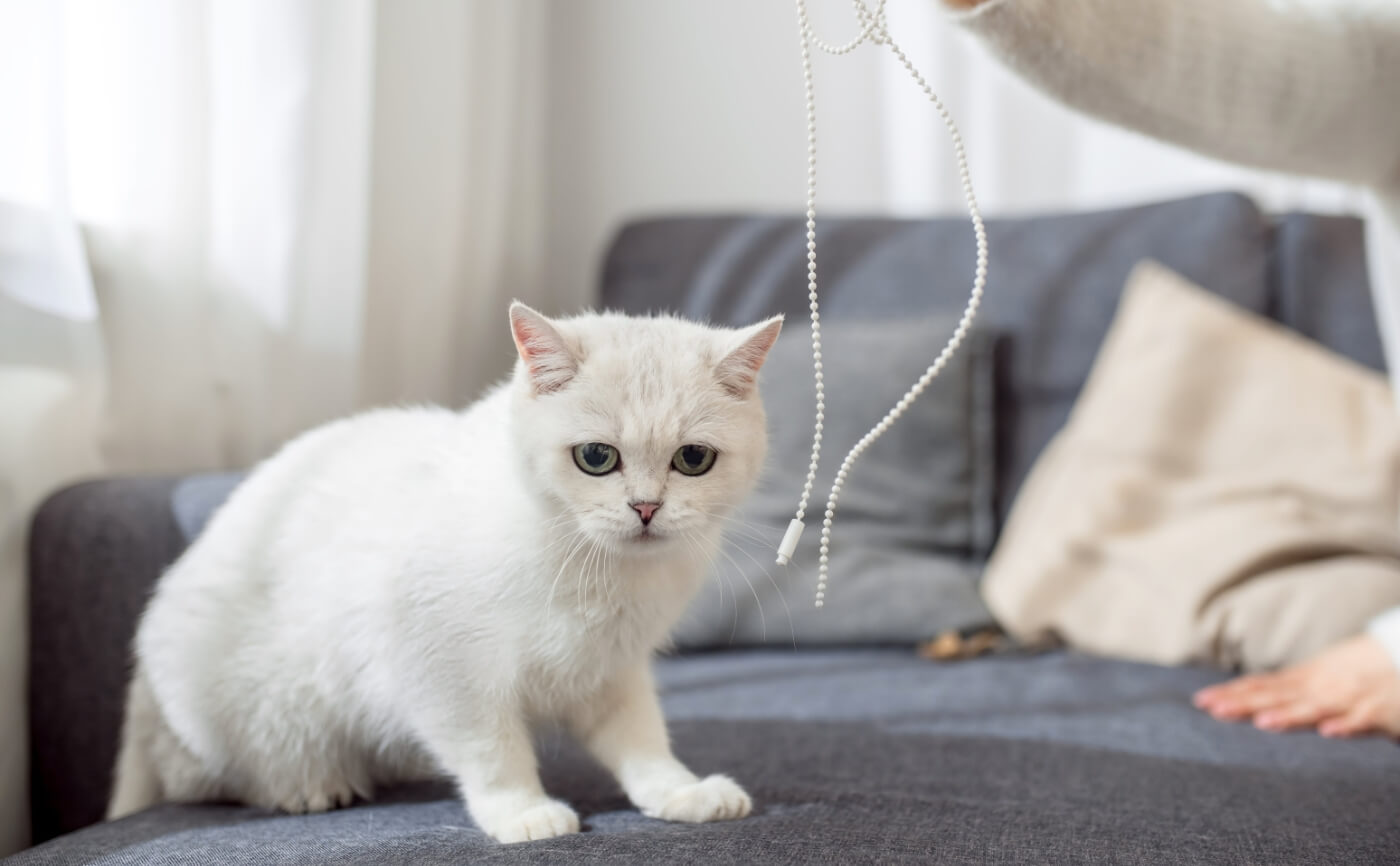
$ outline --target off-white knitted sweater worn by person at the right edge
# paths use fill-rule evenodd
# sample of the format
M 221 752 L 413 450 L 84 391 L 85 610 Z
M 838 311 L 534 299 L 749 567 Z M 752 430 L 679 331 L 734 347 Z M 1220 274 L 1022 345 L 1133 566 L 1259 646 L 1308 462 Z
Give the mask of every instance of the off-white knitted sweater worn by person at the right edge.
M 958 20 L 1086 113 L 1365 186 L 1371 288 L 1400 404 L 1400 0 L 988 0 Z M 1369 631 L 1400 667 L 1400 609 Z

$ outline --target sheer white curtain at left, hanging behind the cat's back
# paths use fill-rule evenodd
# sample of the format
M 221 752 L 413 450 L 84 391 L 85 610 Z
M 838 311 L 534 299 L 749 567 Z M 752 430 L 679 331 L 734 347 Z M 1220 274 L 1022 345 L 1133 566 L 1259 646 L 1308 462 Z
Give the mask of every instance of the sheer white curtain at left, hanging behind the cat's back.
M 566 302 L 536 273 L 543 21 L 543 0 L 0 0 L 0 855 L 27 835 L 45 492 L 465 403 L 504 372 L 508 298 Z

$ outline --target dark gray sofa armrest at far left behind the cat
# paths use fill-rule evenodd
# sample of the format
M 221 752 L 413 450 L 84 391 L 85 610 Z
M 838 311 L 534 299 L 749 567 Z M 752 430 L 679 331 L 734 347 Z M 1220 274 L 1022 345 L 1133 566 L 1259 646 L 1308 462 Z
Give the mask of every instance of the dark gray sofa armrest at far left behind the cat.
M 155 576 L 185 548 L 174 480 L 55 494 L 29 534 L 29 776 L 35 839 L 101 820 L 127 645 Z

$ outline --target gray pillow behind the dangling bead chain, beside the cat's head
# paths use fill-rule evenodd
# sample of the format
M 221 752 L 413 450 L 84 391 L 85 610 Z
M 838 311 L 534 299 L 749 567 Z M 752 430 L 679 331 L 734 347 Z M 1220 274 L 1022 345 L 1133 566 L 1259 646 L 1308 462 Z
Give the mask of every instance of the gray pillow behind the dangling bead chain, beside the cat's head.
M 923 397 L 851 470 L 832 533 L 826 607 L 816 558 L 846 452 L 903 395 L 955 320 L 839 320 L 822 329 L 826 423 L 806 532 L 774 564 L 812 439 L 811 330 L 790 322 L 763 367 L 769 464 L 715 574 L 675 631 L 680 648 L 914 642 L 991 624 L 977 593 L 994 539 L 993 339 L 974 332 Z

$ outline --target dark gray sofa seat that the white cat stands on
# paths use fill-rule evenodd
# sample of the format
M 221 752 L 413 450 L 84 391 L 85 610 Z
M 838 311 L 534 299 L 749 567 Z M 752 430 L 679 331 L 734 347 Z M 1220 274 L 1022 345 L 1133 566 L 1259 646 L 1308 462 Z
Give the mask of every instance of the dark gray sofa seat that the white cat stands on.
M 676 748 L 753 793 L 743 821 L 637 814 L 566 741 L 577 837 L 498 846 L 445 785 L 290 817 L 162 806 L 29 851 L 57 863 L 1394 863 L 1400 750 L 1205 719 L 1214 674 L 1072 655 L 939 666 L 907 651 L 665 660 Z

